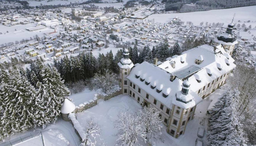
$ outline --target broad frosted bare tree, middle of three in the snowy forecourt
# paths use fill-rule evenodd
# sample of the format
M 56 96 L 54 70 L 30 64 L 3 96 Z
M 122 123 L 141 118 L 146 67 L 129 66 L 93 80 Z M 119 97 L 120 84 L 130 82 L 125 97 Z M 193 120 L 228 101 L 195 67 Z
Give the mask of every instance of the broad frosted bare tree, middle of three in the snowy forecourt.
M 118 129 L 116 146 L 137 146 L 139 141 L 146 142 L 146 127 L 139 116 L 121 112 L 114 126 Z

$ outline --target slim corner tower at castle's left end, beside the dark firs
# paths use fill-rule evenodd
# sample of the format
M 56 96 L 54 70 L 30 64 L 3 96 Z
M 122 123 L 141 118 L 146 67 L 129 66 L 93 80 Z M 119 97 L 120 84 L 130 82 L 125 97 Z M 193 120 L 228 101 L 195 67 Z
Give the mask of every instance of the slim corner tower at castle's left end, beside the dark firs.
M 129 59 L 129 50 L 124 49 L 123 58 L 118 63 L 119 66 L 119 86 L 122 88 L 123 94 L 128 95 L 129 80 L 127 76 L 130 74 L 131 68 L 134 66 Z

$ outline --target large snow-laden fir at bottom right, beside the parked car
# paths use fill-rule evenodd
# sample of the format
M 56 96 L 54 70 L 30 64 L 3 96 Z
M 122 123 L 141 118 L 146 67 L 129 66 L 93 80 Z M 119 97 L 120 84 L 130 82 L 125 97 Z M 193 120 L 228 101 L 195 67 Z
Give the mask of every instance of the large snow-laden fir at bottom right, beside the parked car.
M 208 145 L 244 146 L 247 139 L 244 138 L 242 125 L 238 121 L 236 112 L 236 92 L 228 90 L 216 102 L 210 112 Z

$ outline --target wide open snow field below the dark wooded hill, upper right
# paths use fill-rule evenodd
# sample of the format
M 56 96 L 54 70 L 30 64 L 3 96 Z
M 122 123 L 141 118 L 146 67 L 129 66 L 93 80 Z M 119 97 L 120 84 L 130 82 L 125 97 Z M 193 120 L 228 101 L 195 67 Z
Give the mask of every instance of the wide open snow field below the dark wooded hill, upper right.
M 155 22 L 168 23 L 172 18 L 179 17 L 182 21 L 191 21 L 194 25 L 199 25 L 200 22 L 209 22 L 209 23 L 224 23 L 227 25 L 232 21 L 232 17 L 235 13 L 234 23 L 238 23 L 238 20 L 241 24 L 244 21 L 254 21 L 250 23 L 245 23 L 246 25 L 252 24 L 254 27 L 256 25 L 256 6 L 248 7 L 239 7 L 231 9 L 219 9 L 219 10 L 210 10 L 210 11 L 199 11 L 199 12 L 189 12 L 189 13 L 169 13 L 169 14 L 153 14 L 150 15 L 147 19 L 155 19 Z

